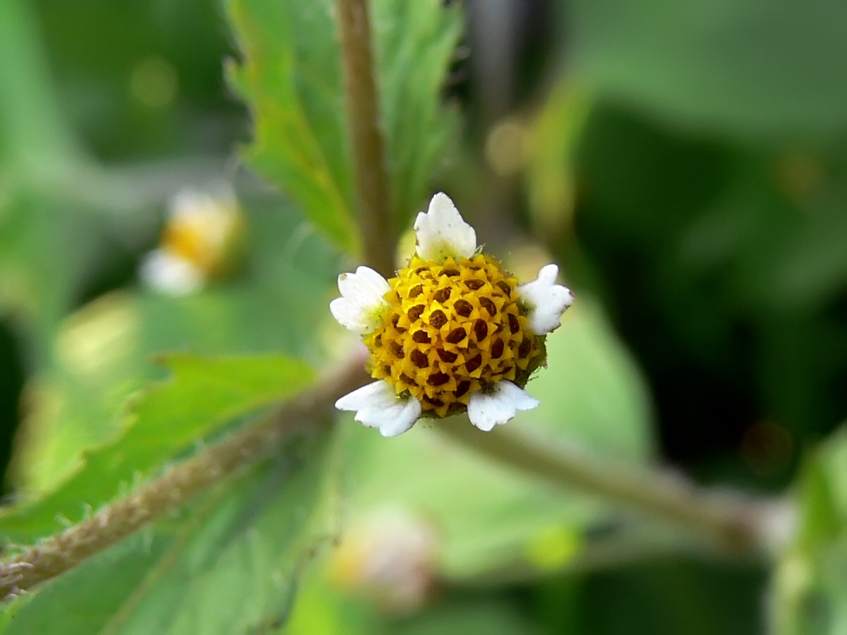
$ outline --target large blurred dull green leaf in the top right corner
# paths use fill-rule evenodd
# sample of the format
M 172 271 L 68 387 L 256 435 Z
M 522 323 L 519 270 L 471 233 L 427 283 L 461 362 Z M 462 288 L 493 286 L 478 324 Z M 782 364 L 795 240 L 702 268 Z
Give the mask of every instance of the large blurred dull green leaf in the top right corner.
M 847 5 L 579 0 L 574 75 L 601 96 L 739 135 L 824 138 L 847 126 Z

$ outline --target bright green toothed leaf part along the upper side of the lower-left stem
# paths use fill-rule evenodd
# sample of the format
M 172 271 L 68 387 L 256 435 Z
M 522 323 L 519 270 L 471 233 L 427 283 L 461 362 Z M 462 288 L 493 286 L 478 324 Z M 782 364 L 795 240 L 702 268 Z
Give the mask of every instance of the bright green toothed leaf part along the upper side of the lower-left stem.
M 296 394 L 312 371 L 285 356 L 206 359 L 169 356 L 174 377 L 136 403 L 115 439 L 90 450 L 83 465 L 43 498 L 0 515 L 0 535 L 31 542 L 61 527 L 58 518 L 77 522 L 84 505 L 113 499 L 121 487 L 146 475 L 236 417 Z

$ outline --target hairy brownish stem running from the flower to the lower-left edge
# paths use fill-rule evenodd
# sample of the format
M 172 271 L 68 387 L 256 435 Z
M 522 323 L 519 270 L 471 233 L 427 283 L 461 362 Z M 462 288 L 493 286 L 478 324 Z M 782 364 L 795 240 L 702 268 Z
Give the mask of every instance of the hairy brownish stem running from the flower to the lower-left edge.
M 158 478 L 106 505 L 85 521 L 3 563 L 0 565 L 0 598 L 20 594 L 57 577 L 148 522 L 185 505 L 236 470 L 263 459 L 281 443 L 315 432 L 329 419 L 335 400 L 367 379 L 363 366 L 363 356 L 353 356 L 338 372 L 267 417 L 170 467 Z

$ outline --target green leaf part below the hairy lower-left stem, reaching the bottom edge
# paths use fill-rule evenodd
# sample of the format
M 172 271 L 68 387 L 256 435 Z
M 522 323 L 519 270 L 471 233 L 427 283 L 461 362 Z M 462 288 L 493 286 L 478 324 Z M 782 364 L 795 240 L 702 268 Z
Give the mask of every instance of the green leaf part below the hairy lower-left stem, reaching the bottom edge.
M 276 632 L 336 533 L 335 443 L 284 452 L 40 588 L 9 635 Z M 306 451 L 308 450 L 308 451 Z

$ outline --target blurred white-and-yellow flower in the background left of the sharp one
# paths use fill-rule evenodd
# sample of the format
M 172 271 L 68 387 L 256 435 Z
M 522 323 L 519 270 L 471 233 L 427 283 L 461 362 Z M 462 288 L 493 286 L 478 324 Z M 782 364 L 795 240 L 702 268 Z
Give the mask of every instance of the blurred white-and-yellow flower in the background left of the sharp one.
M 188 295 L 222 273 L 241 235 L 241 210 L 228 185 L 180 191 L 169 204 L 162 243 L 141 262 L 141 279 L 168 295 Z

